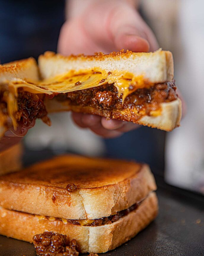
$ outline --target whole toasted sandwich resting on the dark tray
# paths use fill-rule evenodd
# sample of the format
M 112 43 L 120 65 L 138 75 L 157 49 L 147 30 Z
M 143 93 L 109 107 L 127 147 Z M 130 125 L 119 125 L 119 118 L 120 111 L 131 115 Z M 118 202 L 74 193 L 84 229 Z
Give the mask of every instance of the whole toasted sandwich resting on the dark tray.
M 0 234 L 32 242 L 56 232 L 80 252 L 106 252 L 156 217 L 154 190 L 145 164 L 59 156 L 0 177 Z

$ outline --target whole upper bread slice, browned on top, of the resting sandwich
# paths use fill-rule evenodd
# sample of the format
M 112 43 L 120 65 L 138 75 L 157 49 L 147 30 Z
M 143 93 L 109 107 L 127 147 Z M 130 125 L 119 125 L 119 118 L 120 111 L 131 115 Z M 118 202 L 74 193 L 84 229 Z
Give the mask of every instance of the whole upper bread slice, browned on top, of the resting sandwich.
M 66 190 L 70 183 L 77 186 L 71 193 Z M 127 209 L 153 190 L 147 165 L 65 155 L 0 177 L 0 205 L 65 219 L 97 219 Z

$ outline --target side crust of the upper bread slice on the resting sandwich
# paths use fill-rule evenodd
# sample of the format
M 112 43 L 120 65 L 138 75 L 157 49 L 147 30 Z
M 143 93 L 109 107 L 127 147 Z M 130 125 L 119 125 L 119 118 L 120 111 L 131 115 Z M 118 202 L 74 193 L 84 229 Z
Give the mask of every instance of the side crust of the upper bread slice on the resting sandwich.
M 125 170 L 124 170 L 125 171 Z M 127 209 L 157 189 L 148 165 L 116 184 L 77 189 L 67 195 L 66 189 L 1 181 L 0 205 L 6 209 L 65 219 L 98 219 Z M 58 199 L 53 203 L 53 192 Z M 40 198 L 40 200 L 39 200 Z

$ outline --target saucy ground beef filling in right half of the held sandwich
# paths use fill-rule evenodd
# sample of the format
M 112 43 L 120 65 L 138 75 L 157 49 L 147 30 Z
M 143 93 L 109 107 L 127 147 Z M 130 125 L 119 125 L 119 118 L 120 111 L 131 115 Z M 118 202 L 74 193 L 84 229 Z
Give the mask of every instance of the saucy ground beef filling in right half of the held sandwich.
M 145 109 L 146 115 L 150 111 L 157 110 L 162 102 L 170 102 L 177 99 L 176 86 L 173 82 L 155 84 L 150 88 L 138 89 L 125 98 L 122 104 L 122 96 L 118 97 L 117 88 L 113 84 L 101 85 L 85 90 L 78 90 L 57 95 L 57 100 L 64 101 L 67 98 L 71 104 L 80 106 L 92 106 L 100 110 L 132 109 L 139 112 Z

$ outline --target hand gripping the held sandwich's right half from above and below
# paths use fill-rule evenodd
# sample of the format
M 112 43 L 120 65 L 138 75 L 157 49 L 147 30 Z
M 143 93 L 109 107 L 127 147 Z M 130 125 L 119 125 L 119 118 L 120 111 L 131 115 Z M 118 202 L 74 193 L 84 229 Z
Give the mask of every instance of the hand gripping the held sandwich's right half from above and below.
M 83 5 L 87 1 L 77 1 Z M 77 6 L 77 8 L 78 8 Z M 82 10 L 83 9 L 83 10 Z M 63 55 L 95 52 L 110 53 L 121 49 L 148 52 L 158 49 L 158 43 L 144 20 L 129 1 L 89 0 L 79 12 L 71 14 L 60 31 L 58 51 Z M 117 137 L 138 125 L 105 117 L 73 113 L 77 125 L 90 128 L 106 137 Z

